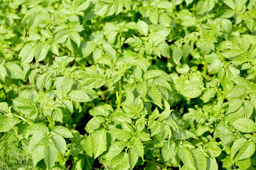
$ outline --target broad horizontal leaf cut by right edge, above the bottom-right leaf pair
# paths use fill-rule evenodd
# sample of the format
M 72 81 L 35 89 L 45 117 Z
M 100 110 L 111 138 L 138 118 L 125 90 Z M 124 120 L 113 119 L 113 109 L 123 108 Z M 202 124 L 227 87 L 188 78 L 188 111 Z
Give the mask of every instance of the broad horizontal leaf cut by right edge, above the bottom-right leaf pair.
M 247 118 L 240 118 L 233 122 L 233 126 L 235 129 L 239 130 L 240 132 L 255 132 L 256 131 L 256 124 Z

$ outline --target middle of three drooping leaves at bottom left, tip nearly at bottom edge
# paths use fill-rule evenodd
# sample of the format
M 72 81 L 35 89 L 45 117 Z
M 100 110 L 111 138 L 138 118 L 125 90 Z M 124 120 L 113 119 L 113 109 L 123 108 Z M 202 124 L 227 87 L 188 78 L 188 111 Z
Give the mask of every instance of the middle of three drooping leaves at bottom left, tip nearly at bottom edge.
M 56 147 L 52 143 L 49 143 L 48 145 L 46 145 L 46 147 L 44 147 L 43 159 L 48 168 L 52 168 L 55 165 L 57 157 L 58 149 L 56 149 Z

